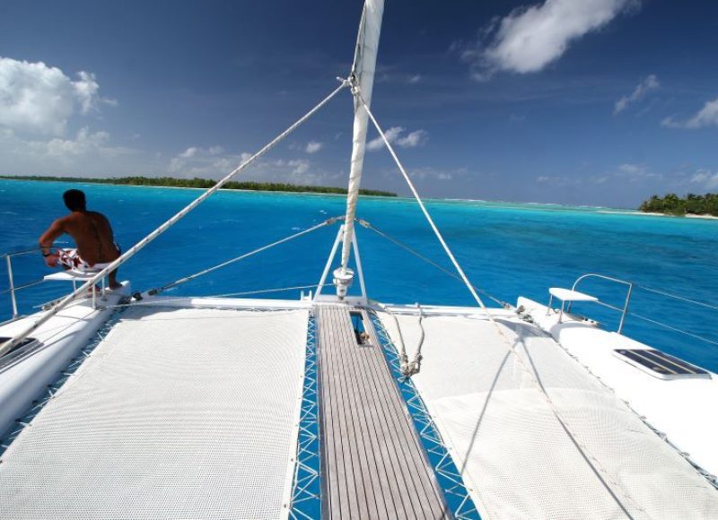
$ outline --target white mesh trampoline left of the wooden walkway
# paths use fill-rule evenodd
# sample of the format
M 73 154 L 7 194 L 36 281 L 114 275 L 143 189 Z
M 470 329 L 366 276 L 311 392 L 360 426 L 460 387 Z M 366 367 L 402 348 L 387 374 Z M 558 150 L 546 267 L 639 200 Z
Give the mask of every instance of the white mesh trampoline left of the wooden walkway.
M 287 516 L 307 319 L 129 308 L 5 452 L 0 517 Z

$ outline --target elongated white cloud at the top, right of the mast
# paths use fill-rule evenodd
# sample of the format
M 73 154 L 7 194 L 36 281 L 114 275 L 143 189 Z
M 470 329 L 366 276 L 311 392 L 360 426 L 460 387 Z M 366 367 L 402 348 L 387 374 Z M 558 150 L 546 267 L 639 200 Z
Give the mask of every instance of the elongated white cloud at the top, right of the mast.
M 519 7 L 489 27 L 486 46 L 464 48 L 475 78 L 485 80 L 497 71 L 534 73 L 563 56 L 582 36 L 600 30 L 638 0 L 546 0 Z

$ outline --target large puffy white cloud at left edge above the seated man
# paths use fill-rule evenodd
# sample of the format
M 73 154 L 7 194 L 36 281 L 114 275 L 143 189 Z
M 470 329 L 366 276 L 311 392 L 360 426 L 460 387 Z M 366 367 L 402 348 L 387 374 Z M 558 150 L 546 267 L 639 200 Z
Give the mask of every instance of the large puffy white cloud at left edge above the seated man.
M 0 57 L 0 126 L 37 134 L 63 134 L 76 109 L 88 114 L 101 103 L 95 75 L 72 81 L 57 67 Z

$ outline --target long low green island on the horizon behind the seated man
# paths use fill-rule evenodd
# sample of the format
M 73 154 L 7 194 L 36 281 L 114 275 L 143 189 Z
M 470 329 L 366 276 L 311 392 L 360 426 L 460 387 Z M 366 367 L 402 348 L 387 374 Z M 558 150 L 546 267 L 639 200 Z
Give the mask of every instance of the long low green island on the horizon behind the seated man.
M 118 184 L 124 186 L 162 186 L 162 187 L 199 187 L 209 188 L 215 186 L 217 181 L 207 178 L 172 178 L 172 177 L 118 177 L 118 178 L 79 178 L 79 177 L 23 177 L 19 175 L 4 175 L 0 178 L 13 180 L 53 180 L 60 182 L 84 182 L 93 184 Z M 323 193 L 346 195 L 345 187 L 331 186 L 298 186 L 282 182 L 235 182 L 230 181 L 223 189 L 241 189 L 250 191 L 281 191 L 292 193 Z M 359 195 L 372 195 L 395 197 L 397 194 L 376 189 L 360 189 Z

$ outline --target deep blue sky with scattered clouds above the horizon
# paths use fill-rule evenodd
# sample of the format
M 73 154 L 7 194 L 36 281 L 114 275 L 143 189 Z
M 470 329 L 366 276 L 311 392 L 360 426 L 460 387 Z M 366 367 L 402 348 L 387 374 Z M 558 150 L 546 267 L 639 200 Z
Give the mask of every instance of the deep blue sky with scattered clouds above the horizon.
M 361 9 L 6 1 L 0 173 L 219 178 L 347 74 Z M 372 109 L 425 196 L 634 207 L 718 191 L 716 48 L 711 1 L 388 0 Z M 345 186 L 351 121 L 344 92 L 242 178 Z

